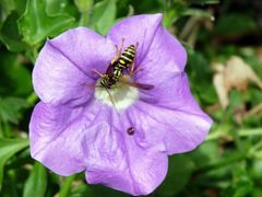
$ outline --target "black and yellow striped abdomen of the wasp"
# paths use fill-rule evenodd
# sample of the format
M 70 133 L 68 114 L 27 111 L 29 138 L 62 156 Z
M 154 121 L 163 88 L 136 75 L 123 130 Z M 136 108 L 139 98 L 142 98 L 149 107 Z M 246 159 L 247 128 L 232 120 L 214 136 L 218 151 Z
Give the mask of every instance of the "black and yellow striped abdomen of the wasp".
M 130 63 L 132 63 L 132 61 L 134 60 L 135 50 L 136 49 L 134 45 L 130 45 L 129 47 L 127 47 L 119 57 L 118 63 L 115 68 L 119 68 L 121 70 L 128 68 Z

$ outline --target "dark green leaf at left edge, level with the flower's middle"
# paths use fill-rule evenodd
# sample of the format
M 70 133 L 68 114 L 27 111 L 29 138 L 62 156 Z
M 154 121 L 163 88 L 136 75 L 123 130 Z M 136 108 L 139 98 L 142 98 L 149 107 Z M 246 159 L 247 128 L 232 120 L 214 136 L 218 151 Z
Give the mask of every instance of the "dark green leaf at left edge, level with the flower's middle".
M 20 109 L 27 106 L 27 102 L 19 97 L 0 97 L 0 120 L 13 124 L 19 123 Z

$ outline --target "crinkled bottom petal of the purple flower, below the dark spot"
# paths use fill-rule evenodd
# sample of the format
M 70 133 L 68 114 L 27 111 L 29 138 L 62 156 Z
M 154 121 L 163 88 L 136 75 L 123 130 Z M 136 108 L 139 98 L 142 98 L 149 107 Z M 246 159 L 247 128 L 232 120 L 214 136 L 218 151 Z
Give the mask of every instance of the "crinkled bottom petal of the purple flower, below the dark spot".
M 147 195 L 165 178 L 167 155 L 157 149 L 140 147 L 126 130 L 126 127 L 99 125 L 90 129 L 94 137 L 85 140 L 86 179 L 134 196 Z

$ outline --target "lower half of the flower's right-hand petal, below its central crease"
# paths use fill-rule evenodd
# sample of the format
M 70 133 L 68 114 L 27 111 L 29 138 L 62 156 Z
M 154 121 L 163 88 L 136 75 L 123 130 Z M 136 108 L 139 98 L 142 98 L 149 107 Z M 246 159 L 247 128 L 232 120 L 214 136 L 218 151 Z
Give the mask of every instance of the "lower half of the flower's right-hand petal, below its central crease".
M 133 117 L 131 124 L 138 135 L 144 136 L 144 144 L 156 146 L 163 150 L 164 143 L 168 154 L 193 150 L 205 139 L 212 125 L 205 115 L 145 104 L 130 108 L 129 116 Z

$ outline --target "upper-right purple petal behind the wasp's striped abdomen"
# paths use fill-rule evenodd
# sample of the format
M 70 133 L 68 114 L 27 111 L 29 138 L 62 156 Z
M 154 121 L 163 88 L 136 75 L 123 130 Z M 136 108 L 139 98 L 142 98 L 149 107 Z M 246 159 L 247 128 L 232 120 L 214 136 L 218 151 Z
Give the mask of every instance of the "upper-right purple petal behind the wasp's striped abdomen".
M 119 22 L 108 33 L 108 38 L 118 46 L 122 38 L 124 47 L 139 42 L 135 56 L 135 67 L 142 69 L 136 73 L 139 82 L 162 81 L 184 69 L 187 53 L 160 21 L 162 14 L 135 15 Z

